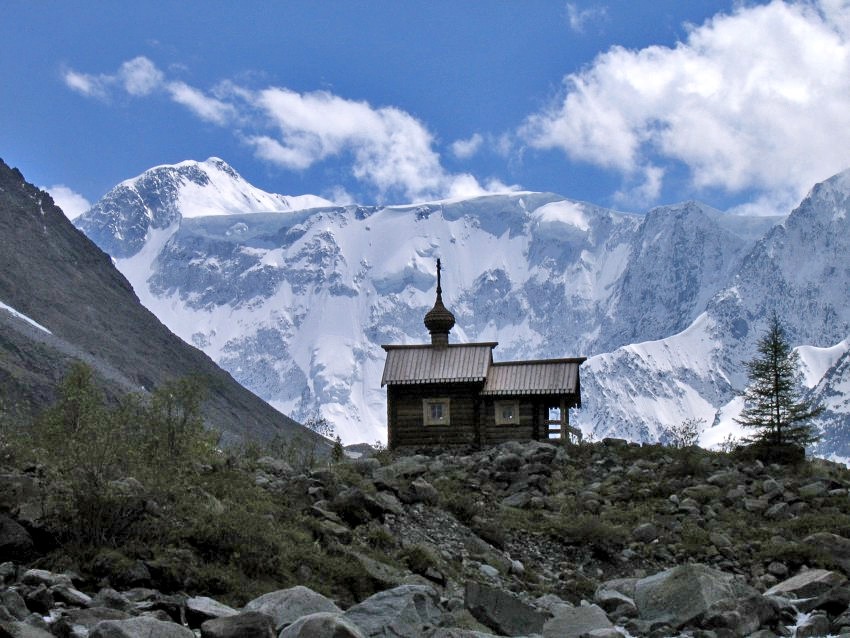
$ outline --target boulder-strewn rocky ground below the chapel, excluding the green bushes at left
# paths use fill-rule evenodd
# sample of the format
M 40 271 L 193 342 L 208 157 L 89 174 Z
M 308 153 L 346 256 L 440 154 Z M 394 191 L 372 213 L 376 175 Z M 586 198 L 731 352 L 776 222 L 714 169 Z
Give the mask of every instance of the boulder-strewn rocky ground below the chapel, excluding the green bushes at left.
M 606 440 L 245 471 L 374 593 L 298 585 L 229 606 L 188 580 L 165 587 L 154 561 L 97 580 L 32 568 L 20 557 L 39 544 L 38 481 L 10 473 L 0 637 L 850 636 L 850 473 L 837 464 Z

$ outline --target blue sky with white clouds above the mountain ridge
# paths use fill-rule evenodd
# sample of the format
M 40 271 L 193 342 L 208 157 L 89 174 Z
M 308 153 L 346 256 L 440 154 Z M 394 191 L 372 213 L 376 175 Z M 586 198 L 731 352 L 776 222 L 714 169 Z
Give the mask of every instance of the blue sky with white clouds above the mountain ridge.
M 288 195 L 788 212 L 850 167 L 850 2 L 24 2 L 0 157 L 79 210 L 218 156 Z M 80 211 L 81 212 L 81 211 Z

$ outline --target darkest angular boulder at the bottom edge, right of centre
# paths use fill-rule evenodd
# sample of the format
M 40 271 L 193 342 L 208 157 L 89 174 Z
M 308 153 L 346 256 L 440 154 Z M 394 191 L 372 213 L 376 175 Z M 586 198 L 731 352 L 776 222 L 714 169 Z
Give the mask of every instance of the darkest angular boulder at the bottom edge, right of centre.
M 465 603 L 478 622 L 507 636 L 540 633 L 551 617 L 510 592 L 475 581 L 466 583 Z

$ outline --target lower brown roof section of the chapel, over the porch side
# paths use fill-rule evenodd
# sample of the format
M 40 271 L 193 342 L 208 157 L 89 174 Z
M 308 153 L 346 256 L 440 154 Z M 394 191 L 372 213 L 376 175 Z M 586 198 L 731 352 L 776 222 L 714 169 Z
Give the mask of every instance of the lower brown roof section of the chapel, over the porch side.
M 494 363 L 481 394 L 579 394 L 578 367 L 584 361 L 580 357 Z

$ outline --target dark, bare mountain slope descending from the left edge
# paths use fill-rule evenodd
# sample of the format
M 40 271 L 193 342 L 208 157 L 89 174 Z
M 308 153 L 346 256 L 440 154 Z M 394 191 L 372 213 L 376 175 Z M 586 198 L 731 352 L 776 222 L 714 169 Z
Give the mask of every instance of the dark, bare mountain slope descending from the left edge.
M 0 302 L 8 310 L 0 369 L 25 412 L 43 407 L 67 363 L 92 363 L 113 389 L 152 389 L 201 374 L 205 417 L 227 437 L 305 432 L 237 384 L 206 355 L 172 334 L 136 298 L 108 255 L 75 229 L 47 193 L 0 161 Z M 5 384 L 4 384 L 5 385 Z

